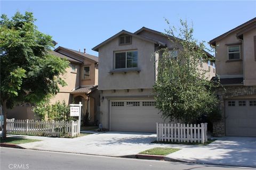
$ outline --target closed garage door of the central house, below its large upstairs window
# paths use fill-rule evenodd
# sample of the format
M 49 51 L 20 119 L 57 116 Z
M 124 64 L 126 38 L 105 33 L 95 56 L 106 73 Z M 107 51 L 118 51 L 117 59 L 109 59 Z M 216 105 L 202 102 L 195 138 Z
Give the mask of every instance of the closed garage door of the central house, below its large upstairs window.
M 110 101 L 110 130 L 156 132 L 156 122 L 163 122 L 153 100 Z

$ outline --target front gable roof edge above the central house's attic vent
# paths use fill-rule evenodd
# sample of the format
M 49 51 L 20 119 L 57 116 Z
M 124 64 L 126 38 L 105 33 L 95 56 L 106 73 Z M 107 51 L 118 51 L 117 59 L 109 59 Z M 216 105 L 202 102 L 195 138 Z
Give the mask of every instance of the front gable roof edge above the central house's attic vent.
M 165 43 L 162 43 L 162 42 L 160 42 L 158 40 L 151 39 L 151 38 L 144 37 L 144 36 L 139 36 L 139 35 L 136 35 L 136 34 L 134 34 L 132 32 L 128 32 L 128 31 L 122 30 L 122 31 L 118 32 L 116 35 L 114 35 L 114 36 L 110 37 L 109 39 L 103 41 L 101 44 L 93 47 L 92 50 L 94 50 L 96 52 L 99 52 L 99 47 L 107 44 L 109 41 L 113 40 L 114 38 L 116 38 L 116 37 L 118 37 L 118 36 L 120 36 L 122 34 L 126 34 L 126 35 L 129 35 L 129 36 L 132 36 L 132 37 L 136 37 L 136 38 L 139 38 L 139 39 L 143 39 L 145 41 L 149 41 L 149 42 L 154 43 L 154 44 L 159 44 L 159 45 L 162 45 L 162 46 L 166 46 Z

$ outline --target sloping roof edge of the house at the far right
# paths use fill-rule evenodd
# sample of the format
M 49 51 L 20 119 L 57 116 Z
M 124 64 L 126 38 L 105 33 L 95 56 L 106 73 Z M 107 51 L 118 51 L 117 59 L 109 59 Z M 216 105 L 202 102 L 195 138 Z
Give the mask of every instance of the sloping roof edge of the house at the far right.
M 210 40 L 209 43 L 210 43 L 211 45 L 215 46 L 215 45 L 216 45 L 216 41 L 218 41 L 218 40 L 220 40 L 220 39 L 222 39 L 222 38 L 228 36 L 230 33 L 233 33 L 233 32 L 235 32 L 235 31 L 237 31 L 237 30 L 239 30 L 239 29 L 242 29 L 242 30 L 240 30 L 240 31 L 237 33 L 237 35 L 236 35 L 236 36 L 239 36 L 239 34 L 241 35 L 241 32 L 244 33 L 244 32 L 243 32 L 244 30 L 248 31 L 247 28 L 255 28 L 255 25 L 256 25 L 256 17 L 253 18 L 253 19 L 251 19 L 251 20 L 249 20 L 249 21 L 247 21 L 247 22 L 245 22 L 245 23 L 243 23 L 243 24 L 241 24 L 241 25 L 239 25 L 239 26 L 237 26 L 236 28 L 231 29 L 231 30 L 229 30 L 228 32 L 225 32 L 225 33 L 223 33 L 222 35 L 220 35 L 220 36 L 218 36 L 218 37 L 216 37 L 216 38 Z

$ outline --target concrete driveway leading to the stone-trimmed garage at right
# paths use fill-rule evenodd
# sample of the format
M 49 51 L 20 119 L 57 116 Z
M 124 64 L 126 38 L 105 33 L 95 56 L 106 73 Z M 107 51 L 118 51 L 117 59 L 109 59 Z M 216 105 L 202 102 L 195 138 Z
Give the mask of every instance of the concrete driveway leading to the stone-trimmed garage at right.
M 256 167 L 256 137 L 222 137 L 210 145 L 184 148 L 167 157 L 189 162 Z

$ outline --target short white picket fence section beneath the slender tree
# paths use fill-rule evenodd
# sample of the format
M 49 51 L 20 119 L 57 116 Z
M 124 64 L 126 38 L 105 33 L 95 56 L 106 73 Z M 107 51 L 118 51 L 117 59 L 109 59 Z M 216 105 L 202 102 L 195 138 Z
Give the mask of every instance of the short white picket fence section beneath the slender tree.
M 156 123 L 157 141 L 168 142 L 207 142 L 207 123 L 201 124 L 166 124 Z

